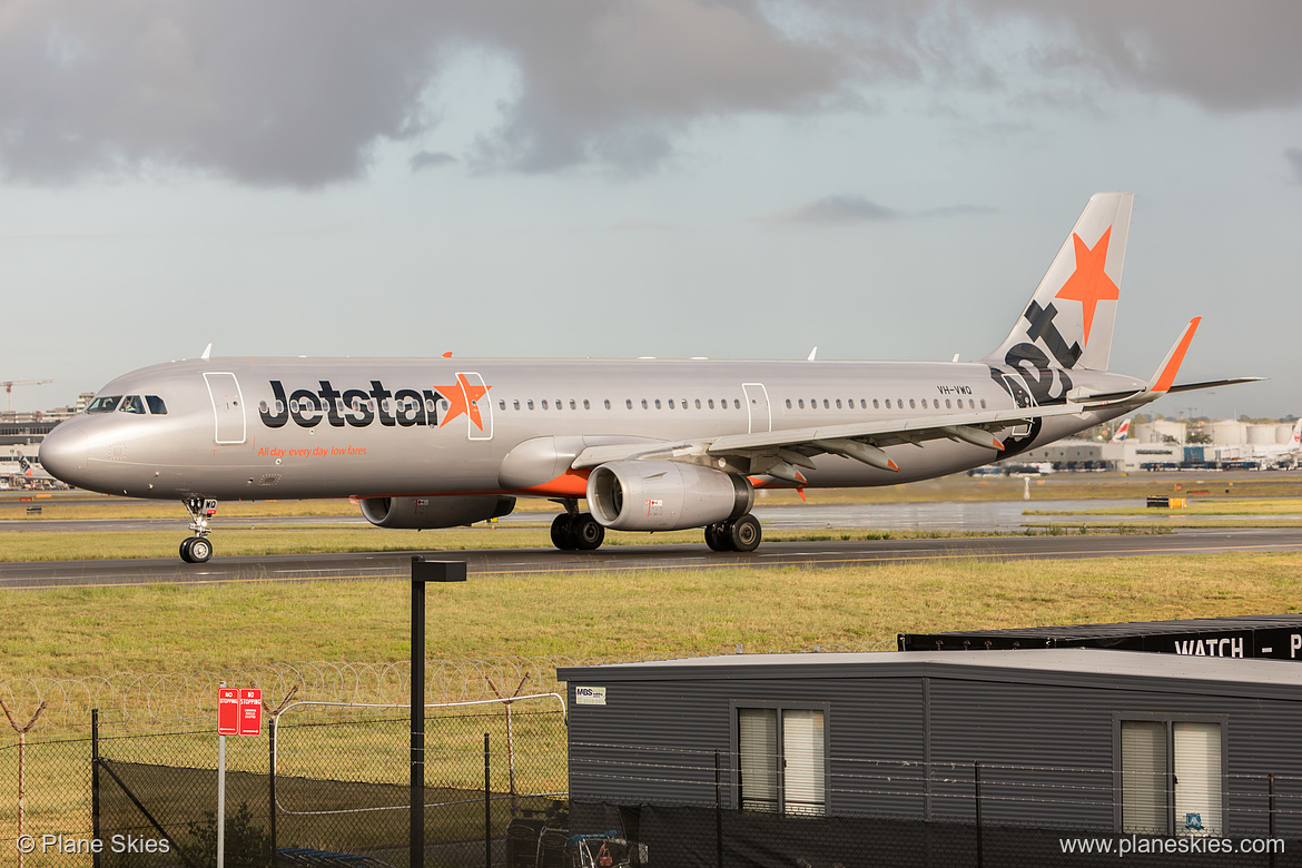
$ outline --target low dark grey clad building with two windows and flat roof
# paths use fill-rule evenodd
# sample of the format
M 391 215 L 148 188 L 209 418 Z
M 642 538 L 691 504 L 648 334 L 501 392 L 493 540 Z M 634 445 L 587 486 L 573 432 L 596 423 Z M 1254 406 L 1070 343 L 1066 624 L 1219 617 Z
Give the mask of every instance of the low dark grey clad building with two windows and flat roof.
M 1302 668 L 1286 661 L 736 655 L 557 677 L 578 806 L 1264 835 L 1273 786 L 1277 834 L 1302 837 Z

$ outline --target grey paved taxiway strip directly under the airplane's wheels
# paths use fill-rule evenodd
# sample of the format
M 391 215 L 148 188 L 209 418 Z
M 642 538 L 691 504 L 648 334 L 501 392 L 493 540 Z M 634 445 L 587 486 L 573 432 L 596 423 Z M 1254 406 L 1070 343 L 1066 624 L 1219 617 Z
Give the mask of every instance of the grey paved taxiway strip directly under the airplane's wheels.
M 988 536 L 918 540 L 764 543 L 756 552 L 711 552 L 691 545 L 607 545 L 596 552 L 551 548 L 387 552 L 375 554 L 283 554 L 217 557 L 207 563 L 178 558 L 129 561 L 46 561 L 0 563 L 0 588 L 111 587 L 232 582 L 305 582 L 329 579 L 408 579 L 411 557 L 465 561 L 475 578 L 629 570 L 711 570 L 724 567 L 833 569 L 891 566 L 910 561 L 993 558 L 1143 557 L 1221 552 L 1302 550 L 1302 528 L 1208 528 L 1173 534 L 1083 536 Z

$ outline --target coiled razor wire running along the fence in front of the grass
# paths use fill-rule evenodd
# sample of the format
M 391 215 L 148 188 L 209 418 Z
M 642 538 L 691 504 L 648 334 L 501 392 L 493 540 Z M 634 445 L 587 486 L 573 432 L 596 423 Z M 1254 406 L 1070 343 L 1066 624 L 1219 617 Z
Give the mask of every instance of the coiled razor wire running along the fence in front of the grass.
M 893 651 L 894 643 L 811 645 L 745 653 L 845 653 Z M 681 655 L 715 656 L 719 651 Z M 647 662 L 665 657 L 503 656 L 426 661 L 426 701 L 496 699 L 492 685 L 525 683 L 526 692 L 560 691 L 556 670 L 616 662 Z M 40 703 L 46 712 L 33 731 L 90 731 L 91 711 L 115 726 L 152 727 L 172 724 L 211 724 L 216 720 L 217 687 L 256 687 L 272 707 L 293 687 L 297 700 L 335 703 L 405 703 L 410 699 L 411 665 L 400 662 L 290 662 L 247 669 L 193 673 L 117 673 L 86 678 L 10 678 L 0 681 L 0 699 L 16 713 L 30 713 Z M 21 709 L 21 711 L 20 711 Z

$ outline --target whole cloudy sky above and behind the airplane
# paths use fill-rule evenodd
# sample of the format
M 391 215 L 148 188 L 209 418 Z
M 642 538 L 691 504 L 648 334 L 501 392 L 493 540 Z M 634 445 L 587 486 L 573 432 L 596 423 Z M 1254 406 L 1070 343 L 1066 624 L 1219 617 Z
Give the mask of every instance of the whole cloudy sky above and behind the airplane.
M 0 0 L 13 407 L 221 355 L 976 359 L 1135 194 L 1112 368 L 1302 414 L 1293 0 Z

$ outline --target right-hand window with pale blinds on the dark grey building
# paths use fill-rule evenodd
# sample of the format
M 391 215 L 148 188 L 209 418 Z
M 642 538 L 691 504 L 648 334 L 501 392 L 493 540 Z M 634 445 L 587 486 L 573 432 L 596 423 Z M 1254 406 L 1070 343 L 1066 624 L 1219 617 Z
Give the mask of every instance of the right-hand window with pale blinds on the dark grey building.
M 1220 722 L 1121 721 L 1121 828 L 1221 835 Z

